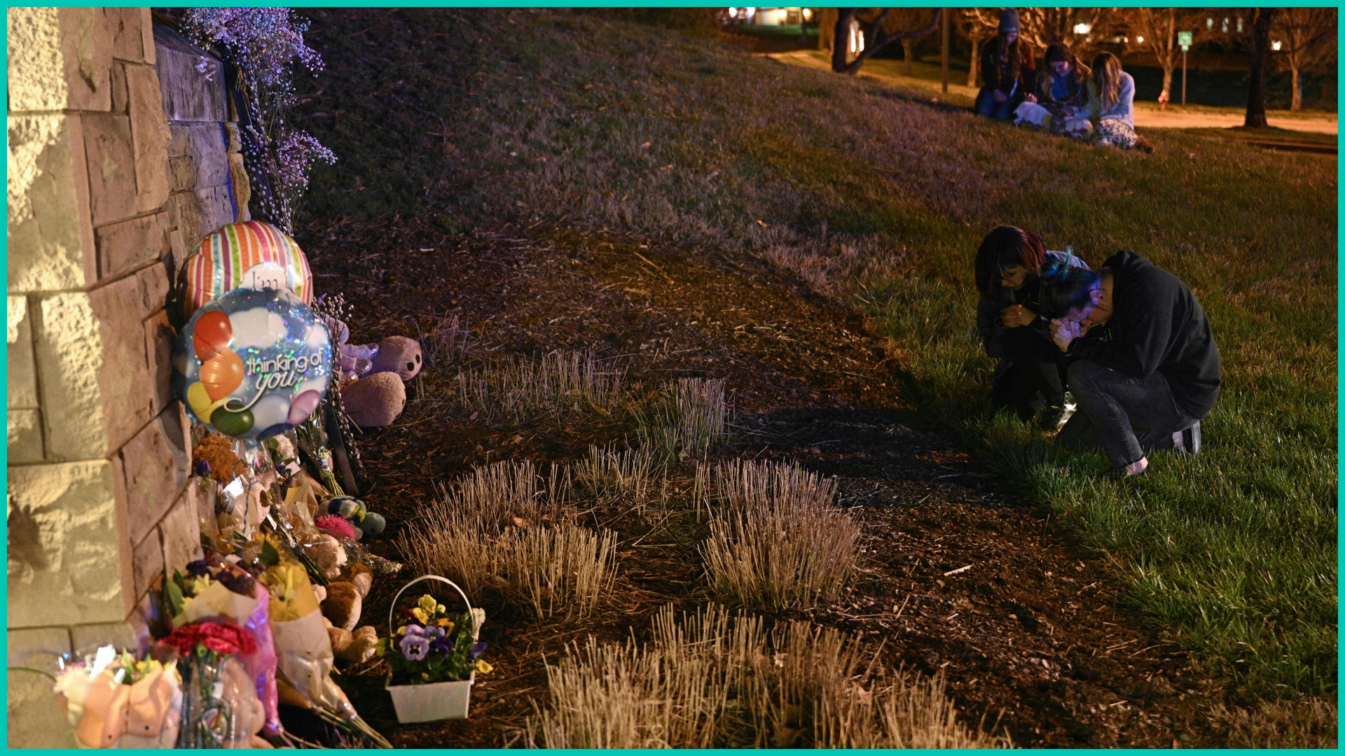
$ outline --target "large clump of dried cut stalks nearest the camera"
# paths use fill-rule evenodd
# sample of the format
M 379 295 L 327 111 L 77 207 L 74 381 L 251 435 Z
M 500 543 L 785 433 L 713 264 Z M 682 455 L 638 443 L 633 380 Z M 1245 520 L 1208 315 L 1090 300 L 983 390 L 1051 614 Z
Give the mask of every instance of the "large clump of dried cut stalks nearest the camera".
M 547 748 L 997 748 L 956 721 L 943 681 L 896 674 L 858 638 L 707 607 L 654 620 L 646 646 L 574 643 L 547 666 L 550 702 L 527 721 Z

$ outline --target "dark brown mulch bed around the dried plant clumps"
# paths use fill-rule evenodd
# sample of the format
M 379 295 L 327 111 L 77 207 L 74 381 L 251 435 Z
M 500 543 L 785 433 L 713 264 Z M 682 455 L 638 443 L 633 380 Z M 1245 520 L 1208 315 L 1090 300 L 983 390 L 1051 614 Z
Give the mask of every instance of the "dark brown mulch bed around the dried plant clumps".
M 1119 604 L 1104 560 L 997 492 L 950 436 L 921 428 L 862 319 L 760 261 L 551 226 L 449 237 L 401 218 L 315 223 L 297 239 L 317 293 L 340 292 L 354 305 L 354 343 L 429 340 L 456 315 L 480 348 L 593 350 L 627 370 L 633 395 L 679 377 L 726 378 L 736 436 L 721 456 L 799 460 L 837 475 L 842 504 L 865 525 L 862 572 L 846 599 L 763 613 L 863 634 L 885 643 L 892 663 L 942 671 L 964 720 L 998 722 L 1017 745 L 1223 744 L 1204 714 L 1215 685 Z M 437 486 L 472 465 L 576 460 L 590 443 L 631 430 L 592 416 L 487 426 L 445 401 L 453 374 L 441 355 L 409 386 L 402 417 L 358 439 L 362 494 L 386 514 L 389 537 L 414 527 Z M 599 617 L 538 623 L 482 599 L 495 671 L 476 683 L 469 720 L 398 725 L 377 660 L 340 677 L 355 706 L 398 747 L 516 744 L 545 705 L 545 659 L 568 642 L 640 636 L 663 604 L 710 600 L 694 529 L 659 530 L 636 517 L 608 526 L 621 538 L 621 589 Z M 398 557 L 387 538 L 374 547 Z M 375 584 L 364 623 L 386 632 L 398 587 Z

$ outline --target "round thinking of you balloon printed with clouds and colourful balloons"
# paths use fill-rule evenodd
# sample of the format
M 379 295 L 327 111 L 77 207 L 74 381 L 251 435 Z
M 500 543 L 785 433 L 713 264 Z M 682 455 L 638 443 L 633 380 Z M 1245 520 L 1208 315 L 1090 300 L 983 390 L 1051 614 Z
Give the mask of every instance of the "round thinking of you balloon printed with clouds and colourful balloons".
M 257 441 L 317 410 L 332 378 L 331 335 L 286 289 L 234 289 L 192 313 L 172 365 L 174 393 L 194 420 Z

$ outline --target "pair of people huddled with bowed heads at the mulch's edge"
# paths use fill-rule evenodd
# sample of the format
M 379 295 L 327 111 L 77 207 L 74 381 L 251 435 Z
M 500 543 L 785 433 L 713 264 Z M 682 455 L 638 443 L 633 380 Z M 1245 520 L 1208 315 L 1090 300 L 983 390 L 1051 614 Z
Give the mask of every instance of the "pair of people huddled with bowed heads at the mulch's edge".
M 1200 452 L 1219 350 L 1177 276 L 1132 252 L 1092 270 L 999 226 L 976 252 L 976 330 L 999 359 L 993 405 L 1024 421 L 1045 410 L 1060 444 L 1100 448 L 1116 478 L 1143 472 L 1154 449 Z

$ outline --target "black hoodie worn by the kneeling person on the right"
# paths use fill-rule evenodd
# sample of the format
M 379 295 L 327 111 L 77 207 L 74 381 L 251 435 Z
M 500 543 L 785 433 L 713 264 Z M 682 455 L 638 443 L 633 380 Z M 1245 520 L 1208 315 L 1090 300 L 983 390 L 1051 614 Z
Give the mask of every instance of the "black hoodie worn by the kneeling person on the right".
M 1103 264 L 1112 273 L 1111 339 L 1075 339 L 1069 356 L 1132 378 L 1162 373 L 1177 406 L 1209 414 L 1219 398 L 1219 348 L 1205 311 L 1181 278 L 1132 252 Z

